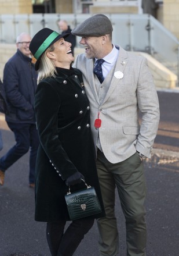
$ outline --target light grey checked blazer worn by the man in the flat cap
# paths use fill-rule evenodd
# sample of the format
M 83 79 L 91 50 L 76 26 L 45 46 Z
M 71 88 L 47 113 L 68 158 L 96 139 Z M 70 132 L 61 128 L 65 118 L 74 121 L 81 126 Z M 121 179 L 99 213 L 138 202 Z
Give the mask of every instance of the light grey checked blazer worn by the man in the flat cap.
M 93 74 L 93 59 L 80 54 L 74 67 L 83 74 L 90 101 L 94 145 L 97 144 L 99 133 L 102 150 L 111 163 L 124 161 L 136 151 L 150 158 L 159 124 L 159 101 L 147 59 L 120 47 L 114 69 L 105 77 L 103 84 L 98 85 Z M 97 86 L 102 86 L 103 90 L 107 83 L 110 84 L 109 90 L 103 99 L 99 99 Z M 98 112 L 102 122 L 101 127 L 96 129 L 94 120 L 98 118 Z

